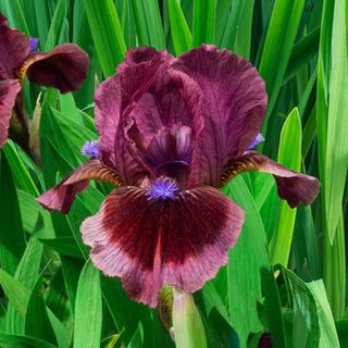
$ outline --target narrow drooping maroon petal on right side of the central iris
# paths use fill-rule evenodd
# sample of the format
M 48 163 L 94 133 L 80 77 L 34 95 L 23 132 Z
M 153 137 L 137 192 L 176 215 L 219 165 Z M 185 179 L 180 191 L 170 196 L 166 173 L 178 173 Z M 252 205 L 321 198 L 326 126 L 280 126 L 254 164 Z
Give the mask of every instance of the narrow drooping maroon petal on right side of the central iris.
M 290 171 L 287 167 L 270 160 L 258 151 L 246 151 L 241 157 L 228 163 L 221 178 L 221 187 L 243 172 L 262 172 L 273 174 L 278 195 L 287 200 L 291 208 L 300 202 L 311 204 L 320 191 L 320 182 L 316 177 Z

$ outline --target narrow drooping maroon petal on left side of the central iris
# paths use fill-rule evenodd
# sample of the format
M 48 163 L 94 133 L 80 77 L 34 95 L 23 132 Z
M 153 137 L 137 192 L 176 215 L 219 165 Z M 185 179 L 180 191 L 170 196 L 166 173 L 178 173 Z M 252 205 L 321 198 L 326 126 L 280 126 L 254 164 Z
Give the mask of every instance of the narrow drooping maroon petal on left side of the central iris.
M 103 166 L 99 160 L 91 159 L 78 166 L 61 183 L 38 197 L 36 201 L 50 212 L 57 209 L 66 214 L 74 202 L 75 196 L 88 187 L 90 179 L 99 179 L 120 186 L 114 172 Z

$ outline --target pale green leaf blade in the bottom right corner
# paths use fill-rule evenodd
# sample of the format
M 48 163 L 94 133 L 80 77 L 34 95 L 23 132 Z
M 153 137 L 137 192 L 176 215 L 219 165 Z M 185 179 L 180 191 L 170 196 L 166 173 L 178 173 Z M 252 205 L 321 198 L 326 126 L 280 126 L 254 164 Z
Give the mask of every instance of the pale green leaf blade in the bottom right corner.
M 323 281 L 320 279 L 307 283 L 307 286 L 311 290 L 316 303 L 319 325 L 321 332 L 319 347 L 338 348 L 338 337 L 335 328 L 333 314 L 331 312 L 330 304 L 327 301 Z

